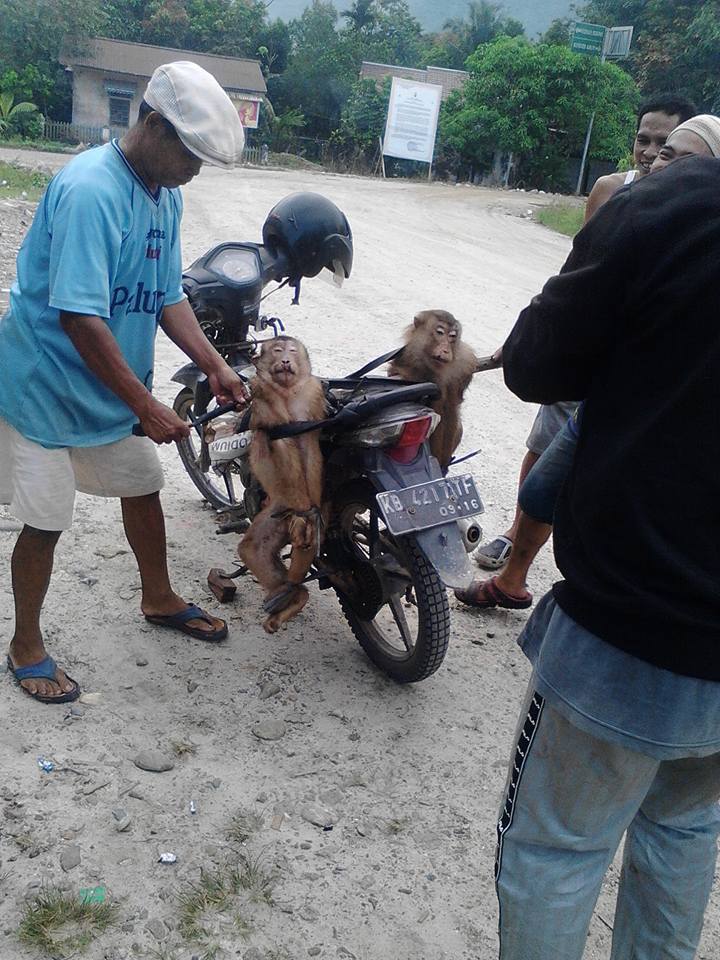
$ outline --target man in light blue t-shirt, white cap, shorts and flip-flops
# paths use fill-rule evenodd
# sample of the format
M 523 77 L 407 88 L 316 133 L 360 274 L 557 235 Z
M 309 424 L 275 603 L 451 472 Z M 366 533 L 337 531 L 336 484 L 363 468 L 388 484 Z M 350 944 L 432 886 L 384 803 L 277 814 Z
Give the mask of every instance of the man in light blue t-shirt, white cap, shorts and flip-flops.
M 215 79 L 190 62 L 153 74 L 123 140 L 77 157 L 51 182 L 17 261 L 0 321 L 0 502 L 24 524 L 12 557 L 8 667 L 46 703 L 79 685 L 48 656 L 40 611 L 75 491 L 119 497 L 151 622 L 210 641 L 224 621 L 170 585 L 153 445 L 189 428 L 152 396 L 158 324 L 207 374 L 219 402 L 244 388 L 204 337 L 181 286 L 177 189 L 203 162 L 232 167 L 242 125 Z M 139 421 L 145 437 L 132 436 Z

